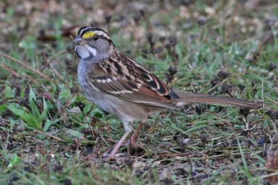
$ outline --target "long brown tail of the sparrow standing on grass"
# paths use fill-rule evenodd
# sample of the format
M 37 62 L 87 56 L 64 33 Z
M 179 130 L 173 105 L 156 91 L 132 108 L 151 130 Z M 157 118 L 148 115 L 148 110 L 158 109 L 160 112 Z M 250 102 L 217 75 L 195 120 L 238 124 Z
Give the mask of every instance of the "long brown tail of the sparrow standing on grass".
M 259 109 L 262 102 L 252 102 L 249 100 L 242 100 L 236 98 L 229 98 L 223 96 L 212 96 L 206 94 L 195 94 L 186 91 L 175 90 L 177 96 L 179 96 L 179 103 L 177 105 L 185 105 L 187 103 L 208 103 L 208 104 L 220 104 L 231 105 L 242 108 Z M 183 104 L 184 103 L 184 104 Z

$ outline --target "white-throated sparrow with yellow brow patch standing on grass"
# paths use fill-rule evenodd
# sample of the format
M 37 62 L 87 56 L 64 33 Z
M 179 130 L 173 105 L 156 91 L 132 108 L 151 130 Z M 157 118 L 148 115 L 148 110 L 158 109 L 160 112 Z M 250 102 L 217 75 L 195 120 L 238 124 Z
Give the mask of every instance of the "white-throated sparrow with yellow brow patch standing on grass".
M 83 93 L 88 100 L 119 118 L 124 125 L 125 133 L 111 152 L 106 154 L 107 159 L 115 159 L 117 150 L 133 132 L 135 121 L 141 124 L 130 137 L 131 145 L 148 116 L 155 112 L 181 109 L 183 105 L 192 103 L 249 109 L 261 107 L 261 103 L 256 101 L 172 89 L 117 49 L 110 35 L 101 28 L 79 28 L 72 44 L 79 58 L 77 76 Z

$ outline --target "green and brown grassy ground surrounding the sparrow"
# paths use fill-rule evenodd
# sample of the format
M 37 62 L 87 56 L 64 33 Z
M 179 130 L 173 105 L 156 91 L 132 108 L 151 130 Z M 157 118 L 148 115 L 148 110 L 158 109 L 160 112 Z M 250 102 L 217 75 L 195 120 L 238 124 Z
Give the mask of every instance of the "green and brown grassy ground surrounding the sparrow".
M 278 148 L 275 1 L 0 7 L 0 184 L 269 183 L 266 155 Z M 103 162 L 124 128 L 79 91 L 70 46 L 76 28 L 92 24 L 109 28 L 121 51 L 173 88 L 265 106 L 186 105 L 154 114 L 136 142 L 142 148 L 122 147 L 122 160 Z

